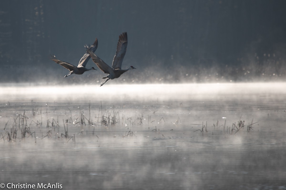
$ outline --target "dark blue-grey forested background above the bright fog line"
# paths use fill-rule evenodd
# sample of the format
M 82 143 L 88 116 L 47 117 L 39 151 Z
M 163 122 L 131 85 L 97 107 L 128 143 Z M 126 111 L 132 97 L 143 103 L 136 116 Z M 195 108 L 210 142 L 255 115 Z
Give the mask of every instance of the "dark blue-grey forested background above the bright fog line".
M 0 82 L 102 82 L 102 71 L 63 78 L 49 54 L 77 65 L 98 38 L 95 53 L 111 65 L 125 31 L 122 68 L 137 70 L 120 83 L 284 80 L 285 9 L 285 0 L 2 0 Z

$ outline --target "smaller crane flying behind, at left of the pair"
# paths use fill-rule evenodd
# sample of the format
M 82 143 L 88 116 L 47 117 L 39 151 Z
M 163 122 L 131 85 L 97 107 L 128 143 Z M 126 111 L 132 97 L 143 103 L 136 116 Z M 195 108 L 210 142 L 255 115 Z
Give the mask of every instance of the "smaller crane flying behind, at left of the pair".
M 97 49 L 97 45 L 98 45 L 98 42 L 96 38 L 92 46 L 89 47 L 90 51 L 95 52 L 95 50 Z M 70 71 L 68 75 L 71 75 L 71 74 L 81 75 L 85 71 L 96 70 L 94 67 L 90 69 L 86 68 L 86 64 L 88 63 L 88 60 L 90 60 L 90 54 L 88 52 L 86 52 L 84 56 L 80 59 L 80 62 L 78 63 L 77 67 L 67 62 L 58 60 L 54 55 L 53 56 L 51 55 L 51 60 L 53 60 L 57 64 L 60 64 L 64 68 L 68 69 Z M 67 77 L 68 75 L 65 75 L 64 77 Z

